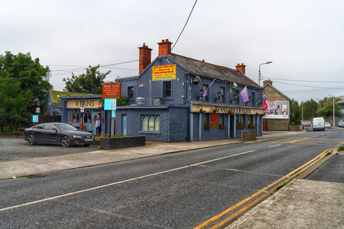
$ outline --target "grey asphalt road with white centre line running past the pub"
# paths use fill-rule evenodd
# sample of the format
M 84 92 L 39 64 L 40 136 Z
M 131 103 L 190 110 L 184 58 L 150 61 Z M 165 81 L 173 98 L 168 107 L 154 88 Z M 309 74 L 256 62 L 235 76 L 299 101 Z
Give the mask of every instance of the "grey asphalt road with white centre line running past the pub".
M 53 199 L 0 211 L 0 228 L 194 228 L 343 136 L 309 132 L 2 180 L 0 209 Z

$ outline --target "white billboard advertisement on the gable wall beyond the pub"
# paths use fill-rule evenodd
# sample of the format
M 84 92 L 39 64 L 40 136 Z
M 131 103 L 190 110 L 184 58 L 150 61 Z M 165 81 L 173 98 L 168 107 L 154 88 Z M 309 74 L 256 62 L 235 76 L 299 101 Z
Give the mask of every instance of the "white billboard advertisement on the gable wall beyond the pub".
M 267 100 L 265 104 L 262 104 L 264 108 L 264 118 L 278 118 L 288 119 L 289 118 L 289 102 L 288 101 L 275 101 Z

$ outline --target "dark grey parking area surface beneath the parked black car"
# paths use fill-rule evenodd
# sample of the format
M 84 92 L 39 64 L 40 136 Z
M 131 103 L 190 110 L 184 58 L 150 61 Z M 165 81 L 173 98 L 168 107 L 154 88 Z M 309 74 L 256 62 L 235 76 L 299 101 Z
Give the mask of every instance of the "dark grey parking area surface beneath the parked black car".
M 97 146 L 72 146 L 37 144 L 29 146 L 24 137 L 0 137 L 0 162 L 24 160 L 31 158 L 61 156 L 99 150 Z

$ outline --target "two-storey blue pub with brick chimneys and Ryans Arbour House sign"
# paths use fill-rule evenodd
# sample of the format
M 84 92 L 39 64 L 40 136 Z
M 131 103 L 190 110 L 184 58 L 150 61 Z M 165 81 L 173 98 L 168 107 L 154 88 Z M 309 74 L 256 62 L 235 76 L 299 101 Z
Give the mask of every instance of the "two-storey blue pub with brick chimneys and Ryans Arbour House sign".
M 171 44 L 158 43 L 151 61 L 152 49 L 143 43 L 139 75 L 116 79 L 129 105 L 117 107 L 111 133 L 167 142 L 240 138 L 242 130 L 262 135 L 263 88 L 245 75 L 246 66 L 234 70 L 173 54 Z M 243 102 L 245 87 L 249 101 Z M 104 113 L 102 131 L 109 133 L 110 112 Z

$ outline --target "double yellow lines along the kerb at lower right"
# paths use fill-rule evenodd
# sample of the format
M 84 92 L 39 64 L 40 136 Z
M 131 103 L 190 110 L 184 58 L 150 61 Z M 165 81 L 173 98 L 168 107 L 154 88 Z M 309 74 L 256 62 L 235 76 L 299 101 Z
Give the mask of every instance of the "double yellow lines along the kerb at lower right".
M 248 208 L 252 207 L 253 205 L 259 203 L 260 201 L 262 201 L 264 198 L 268 197 L 272 192 L 275 191 L 275 188 L 279 185 L 281 185 L 284 182 L 289 182 L 292 179 L 295 178 L 295 176 L 299 175 L 300 173 L 304 172 L 305 170 L 307 170 L 308 168 L 310 168 L 313 164 L 317 163 L 318 161 L 320 161 L 327 152 L 330 152 L 331 150 L 334 150 L 335 148 L 331 148 L 331 149 L 327 149 L 325 151 L 323 151 L 322 153 L 320 153 L 318 156 L 316 156 L 314 159 L 310 160 L 309 162 L 303 164 L 302 166 L 300 166 L 299 168 L 295 169 L 294 171 L 288 173 L 287 175 L 283 176 L 282 178 L 278 179 L 277 181 L 273 182 L 272 184 L 266 186 L 265 188 L 262 188 L 261 190 L 259 190 L 258 192 L 256 192 L 255 194 L 251 195 L 250 197 L 247 197 L 246 199 L 244 199 L 243 201 L 240 201 L 239 203 L 237 203 L 236 205 L 233 205 L 232 207 L 228 208 L 227 210 L 223 211 L 222 213 L 218 214 L 217 216 L 214 216 L 211 219 L 208 219 L 207 221 L 205 221 L 204 223 L 198 225 L 197 227 L 195 227 L 194 229 L 201 229 L 204 228 L 205 226 L 207 226 L 208 224 L 214 222 L 215 220 L 225 216 L 227 213 L 229 213 L 230 211 L 236 209 L 237 207 L 245 204 L 246 202 L 250 201 L 251 199 L 253 199 L 254 197 L 258 196 L 260 193 L 264 192 L 265 190 L 267 190 L 268 188 L 276 185 L 277 183 L 279 183 L 278 185 L 274 186 L 273 188 L 271 188 L 270 191 L 268 191 L 267 193 L 265 193 L 264 195 L 260 196 L 259 198 L 255 199 L 254 201 L 252 201 L 251 203 L 248 203 L 246 206 L 242 207 L 241 209 L 239 209 L 238 211 L 236 211 L 234 214 L 228 216 L 227 218 L 225 218 L 224 220 L 222 220 L 221 222 L 219 222 L 218 224 L 214 225 L 213 227 L 211 227 L 210 229 L 216 229 L 221 227 L 222 225 L 224 225 L 226 222 L 228 222 L 229 220 L 232 220 L 233 218 L 235 218 L 236 216 L 238 216 L 239 214 L 243 213 L 245 210 L 247 210 Z

